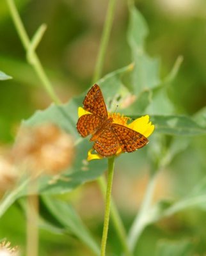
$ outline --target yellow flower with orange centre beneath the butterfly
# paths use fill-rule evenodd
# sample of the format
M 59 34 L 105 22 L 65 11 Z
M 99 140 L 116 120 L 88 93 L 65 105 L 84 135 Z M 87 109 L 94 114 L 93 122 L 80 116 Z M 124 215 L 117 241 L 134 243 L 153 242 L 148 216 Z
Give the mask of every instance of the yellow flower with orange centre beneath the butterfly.
M 79 117 L 86 115 L 86 114 L 90 114 L 90 112 L 84 110 L 83 108 L 79 107 L 78 109 L 78 115 Z M 148 136 L 150 136 L 152 134 L 152 132 L 154 131 L 154 125 L 152 124 L 152 122 L 149 122 L 149 116 L 145 115 L 145 116 L 141 116 L 140 118 L 137 118 L 136 120 L 134 120 L 133 122 L 131 122 L 130 124 L 127 124 L 128 120 L 130 120 L 131 118 L 127 117 L 127 116 L 123 116 L 120 115 L 120 113 L 108 113 L 109 117 L 113 118 L 113 124 L 120 124 L 123 125 L 125 127 L 128 127 L 136 132 L 139 132 L 141 134 L 143 134 L 146 138 L 148 138 Z M 100 154 L 92 154 L 93 152 L 93 148 L 91 148 L 91 150 L 88 151 L 88 161 L 93 160 L 93 159 L 102 159 L 104 158 L 103 156 L 101 156 Z M 118 148 L 117 152 L 116 152 L 116 156 L 120 155 L 122 153 L 122 148 Z

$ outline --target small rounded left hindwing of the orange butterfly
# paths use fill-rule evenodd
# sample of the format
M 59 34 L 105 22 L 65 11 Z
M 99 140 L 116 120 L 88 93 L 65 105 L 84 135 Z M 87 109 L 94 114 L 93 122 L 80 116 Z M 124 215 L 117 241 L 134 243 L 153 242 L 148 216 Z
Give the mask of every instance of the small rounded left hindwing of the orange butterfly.
M 98 129 L 100 123 L 101 120 L 98 116 L 92 114 L 83 115 L 77 122 L 77 131 L 81 136 L 86 137 L 89 134 L 93 134 Z

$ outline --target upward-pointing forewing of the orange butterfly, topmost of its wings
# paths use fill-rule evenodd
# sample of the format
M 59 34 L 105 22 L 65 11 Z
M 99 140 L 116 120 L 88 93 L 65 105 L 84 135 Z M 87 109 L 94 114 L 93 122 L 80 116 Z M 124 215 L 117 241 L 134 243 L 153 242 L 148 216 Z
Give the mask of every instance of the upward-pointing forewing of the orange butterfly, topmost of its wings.
M 104 102 L 102 92 L 97 84 L 94 84 L 87 93 L 84 102 L 84 109 L 90 113 L 107 118 L 107 108 Z

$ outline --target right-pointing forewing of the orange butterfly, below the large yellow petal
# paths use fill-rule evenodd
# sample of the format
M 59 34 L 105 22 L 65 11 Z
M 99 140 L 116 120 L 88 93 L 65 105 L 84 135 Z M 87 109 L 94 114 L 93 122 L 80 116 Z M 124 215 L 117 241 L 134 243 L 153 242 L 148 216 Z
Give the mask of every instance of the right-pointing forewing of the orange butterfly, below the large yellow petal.
M 116 136 L 118 143 L 124 152 L 134 150 L 147 145 L 148 140 L 143 134 L 119 124 L 111 124 L 111 130 Z

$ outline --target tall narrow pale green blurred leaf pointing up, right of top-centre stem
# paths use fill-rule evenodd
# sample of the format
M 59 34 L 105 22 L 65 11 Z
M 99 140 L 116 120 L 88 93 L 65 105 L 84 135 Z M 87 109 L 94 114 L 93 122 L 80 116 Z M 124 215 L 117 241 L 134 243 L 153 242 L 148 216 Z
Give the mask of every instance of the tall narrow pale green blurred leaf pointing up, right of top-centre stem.
M 136 95 L 161 83 L 159 79 L 159 60 L 150 58 L 145 53 L 145 38 L 147 35 L 146 22 L 141 13 L 132 5 L 129 12 L 128 42 L 134 61 L 132 85 Z

